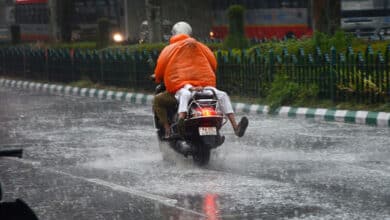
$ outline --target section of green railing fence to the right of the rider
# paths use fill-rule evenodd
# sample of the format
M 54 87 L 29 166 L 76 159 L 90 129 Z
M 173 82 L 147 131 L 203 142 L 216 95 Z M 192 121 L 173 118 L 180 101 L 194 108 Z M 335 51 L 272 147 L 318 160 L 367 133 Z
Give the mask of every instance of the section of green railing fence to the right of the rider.
M 320 99 L 380 103 L 390 98 L 390 46 L 383 52 L 337 52 L 331 48 L 313 54 L 303 49 L 290 54 L 273 51 L 216 52 L 218 87 L 235 95 L 265 97 L 275 74 L 286 74 L 301 87 L 317 85 Z

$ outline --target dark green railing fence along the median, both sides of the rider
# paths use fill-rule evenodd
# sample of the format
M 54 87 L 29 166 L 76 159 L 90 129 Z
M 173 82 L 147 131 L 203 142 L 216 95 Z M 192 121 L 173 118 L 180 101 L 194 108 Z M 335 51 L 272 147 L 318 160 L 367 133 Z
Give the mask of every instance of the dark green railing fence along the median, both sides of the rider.
M 286 74 L 302 87 L 315 84 L 320 99 L 381 103 L 390 96 L 389 56 L 385 51 L 319 48 L 306 54 L 273 51 L 216 51 L 217 84 L 231 95 L 265 97 L 275 74 Z M 68 50 L 8 47 L 0 49 L 0 74 L 24 79 L 71 82 L 87 77 L 105 85 L 153 91 L 148 80 L 159 51 Z

